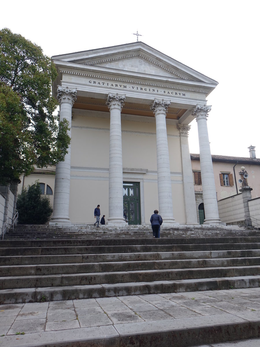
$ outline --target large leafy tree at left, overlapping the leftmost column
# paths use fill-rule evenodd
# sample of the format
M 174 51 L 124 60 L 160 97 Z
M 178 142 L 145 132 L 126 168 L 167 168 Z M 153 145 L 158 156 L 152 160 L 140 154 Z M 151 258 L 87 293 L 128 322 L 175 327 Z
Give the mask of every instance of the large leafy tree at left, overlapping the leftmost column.
M 4 28 L 0 31 L 0 184 L 33 164 L 63 161 L 70 143 L 68 121 L 58 124 L 51 81 L 57 71 L 41 47 Z

